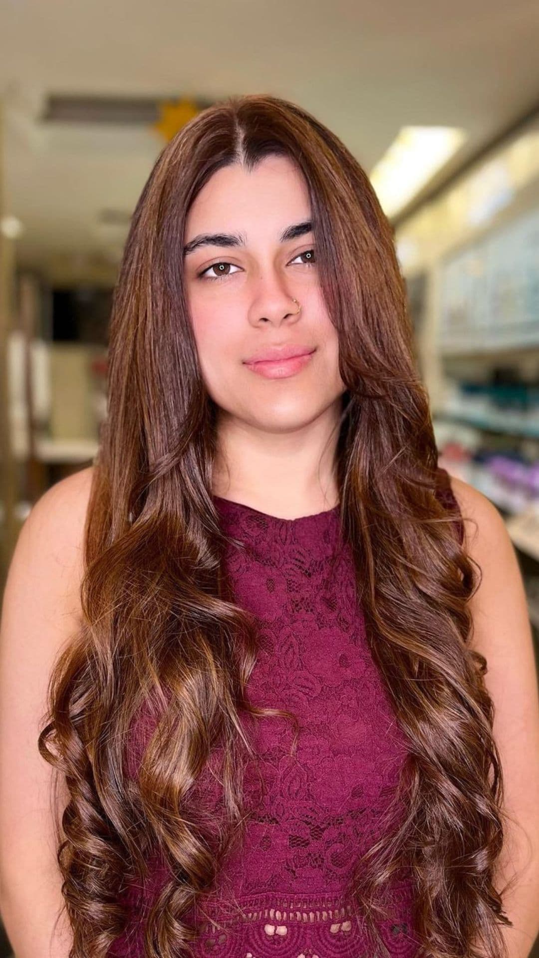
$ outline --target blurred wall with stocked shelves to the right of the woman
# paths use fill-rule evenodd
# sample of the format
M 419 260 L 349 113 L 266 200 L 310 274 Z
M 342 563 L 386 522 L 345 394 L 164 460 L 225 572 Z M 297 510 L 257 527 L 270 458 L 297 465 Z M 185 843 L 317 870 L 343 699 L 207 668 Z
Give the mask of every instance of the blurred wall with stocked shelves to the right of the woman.
M 529 472 L 519 496 L 489 468 L 496 454 L 539 462 L 539 120 L 398 225 L 396 240 L 443 464 L 504 516 L 539 662 L 539 490 Z

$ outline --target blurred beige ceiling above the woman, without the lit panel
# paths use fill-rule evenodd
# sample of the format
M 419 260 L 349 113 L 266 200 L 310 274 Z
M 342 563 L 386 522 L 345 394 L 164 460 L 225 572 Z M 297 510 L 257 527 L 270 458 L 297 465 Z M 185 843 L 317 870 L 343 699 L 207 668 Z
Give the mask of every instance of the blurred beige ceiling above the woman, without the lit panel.
M 537 0 L 3 0 L 4 212 L 20 262 L 117 260 L 163 142 L 141 127 L 44 125 L 56 94 L 272 93 L 369 171 L 401 125 L 459 125 L 452 167 L 539 102 Z M 447 173 L 447 171 L 446 171 Z

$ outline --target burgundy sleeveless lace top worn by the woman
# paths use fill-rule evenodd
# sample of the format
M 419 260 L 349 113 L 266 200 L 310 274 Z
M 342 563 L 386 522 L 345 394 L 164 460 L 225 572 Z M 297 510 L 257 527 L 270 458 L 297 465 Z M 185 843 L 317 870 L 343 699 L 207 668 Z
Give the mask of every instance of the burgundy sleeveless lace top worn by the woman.
M 437 495 L 463 526 L 449 475 L 438 467 Z M 214 958 L 375 958 L 363 919 L 342 892 L 359 852 L 384 834 L 407 742 L 367 646 L 354 570 L 341 545 L 339 506 L 284 519 L 214 496 L 223 528 L 246 543 L 229 547 L 226 570 L 235 601 L 260 623 L 260 652 L 248 680 L 253 704 L 289 709 L 300 722 L 296 752 L 289 719 L 253 724 L 262 804 L 249 817 L 241 851 L 225 859 L 211 894 L 185 916 L 200 928 L 191 947 Z M 330 559 L 339 555 L 337 565 Z M 130 745 L 136 775 L 151 729 Z M 205 771 L 205 769 L 204 769 Z M 248 774 L 246 794 L 257 778 Z M 200 776 L 199 794 L 214 795 Z M 249 791 L 250 789 L 250 791 Z M 211 800 L 211 799 L 210 799 Z M 152 861 L 145 888 L 129 887 L 132 918 L 108 954 L 143 958 L 142 916 L 168 878 Z M 388 890 L 390 918 L 378 924 L 391 958 L 413 958 L 409 874 Z

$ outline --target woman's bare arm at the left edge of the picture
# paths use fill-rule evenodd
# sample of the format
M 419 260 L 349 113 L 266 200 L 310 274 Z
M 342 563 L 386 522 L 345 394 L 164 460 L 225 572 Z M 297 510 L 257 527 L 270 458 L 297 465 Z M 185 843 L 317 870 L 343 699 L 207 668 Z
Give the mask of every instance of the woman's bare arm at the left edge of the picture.
M 0 913 L 16 958 L 68 958 L 73 943 L 61 911 L 54 770 L 39 755 L 37 737 L 54 662 L 80 624 L 82 533 L 91 473 L 92 468 L 85 468 L 60 480 L 35 503 L 19 533 L 3 596 Z M 68 799 L 59 783 L 59 820 Z

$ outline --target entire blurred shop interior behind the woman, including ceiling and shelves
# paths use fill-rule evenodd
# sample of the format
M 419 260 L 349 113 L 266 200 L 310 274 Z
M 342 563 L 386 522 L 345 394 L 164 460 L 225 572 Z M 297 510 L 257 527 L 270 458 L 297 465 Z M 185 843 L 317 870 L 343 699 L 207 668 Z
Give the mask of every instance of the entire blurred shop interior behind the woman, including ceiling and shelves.
M 440 464 L 503 513 L 537 642 L 538 48 L 535 0 L 4 0 L 0 589 L 36 498 L 96 454 L 111 292 L 158 152 L 206 105 L 265 92 L 371 177 Z

